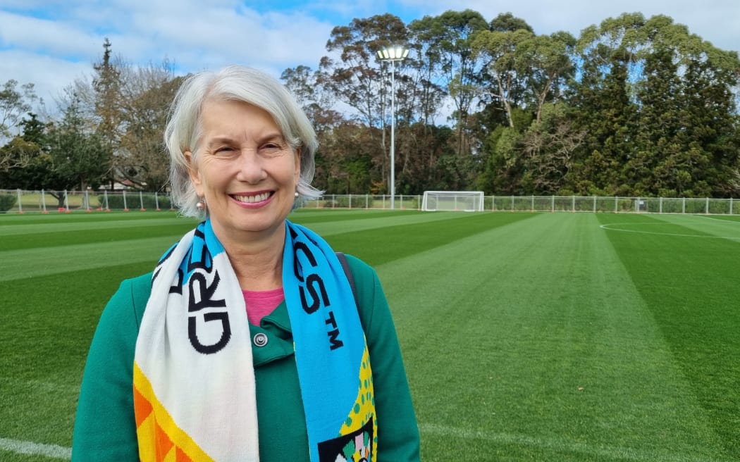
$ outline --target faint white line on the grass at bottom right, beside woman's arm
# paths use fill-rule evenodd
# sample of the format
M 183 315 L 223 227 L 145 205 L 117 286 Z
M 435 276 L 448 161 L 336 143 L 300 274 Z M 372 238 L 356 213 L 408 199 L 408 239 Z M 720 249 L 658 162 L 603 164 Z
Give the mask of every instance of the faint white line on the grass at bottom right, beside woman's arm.
M 517 446 L 539 447 L 542 449 L 565 450 L 605 460 L 636 462 L 729 462 L 727 459 L 691 457 L 685 453 L 669 451 L 640 450 L 628 447 L 585 444 L 566 439 L 534 438 L 513 433 L 485 432 L 483 430 L 463 429 L 437 424 L 420 424 L 419 431 L 426 435 L 453 437 L 466 440 L 490 441 L 494 444 L 514 444 Z

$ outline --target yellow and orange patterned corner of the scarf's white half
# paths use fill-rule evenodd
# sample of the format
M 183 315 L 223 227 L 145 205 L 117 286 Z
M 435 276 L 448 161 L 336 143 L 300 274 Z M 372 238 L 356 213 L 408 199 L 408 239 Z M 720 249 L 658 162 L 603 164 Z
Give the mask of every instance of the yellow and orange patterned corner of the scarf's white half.
M 158 401 L 147 376 L 134 363 L 134 414 L 141 462 L 213 462 L 175 424 Z

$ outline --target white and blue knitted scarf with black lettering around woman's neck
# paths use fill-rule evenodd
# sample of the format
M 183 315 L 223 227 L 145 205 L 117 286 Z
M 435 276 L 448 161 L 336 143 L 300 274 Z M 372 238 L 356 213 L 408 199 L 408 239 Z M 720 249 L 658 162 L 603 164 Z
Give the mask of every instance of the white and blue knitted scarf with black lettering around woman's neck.
M 310 460 L 374 462 L 372 375 L 349 282 L 326 241 L 288 220 L 283 291 Z M 142 462 L 259 461 L 243 294 L 208 220 L 155 268 L 133 384 Z

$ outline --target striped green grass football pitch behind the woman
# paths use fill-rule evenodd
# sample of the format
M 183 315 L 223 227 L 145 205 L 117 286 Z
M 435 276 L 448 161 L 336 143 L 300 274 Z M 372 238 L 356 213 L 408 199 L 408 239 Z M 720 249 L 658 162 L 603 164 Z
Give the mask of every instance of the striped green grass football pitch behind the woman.
M 740 460 L 739 217 L 291 219 L 377 269 L 423 461 Z M 69 457 L 102 308 L 193 224 L 0 216 L 0 461 Z

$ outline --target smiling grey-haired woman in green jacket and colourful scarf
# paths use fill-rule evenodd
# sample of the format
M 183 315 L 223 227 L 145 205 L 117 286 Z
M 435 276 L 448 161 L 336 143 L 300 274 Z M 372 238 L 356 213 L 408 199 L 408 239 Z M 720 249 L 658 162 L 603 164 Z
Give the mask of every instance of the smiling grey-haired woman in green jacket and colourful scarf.
M 286 220 L 320 194 L 289 92 L 244 67 L 192 75 L 165 142 L 173 199 L 203 221 L 105 308 L 73 461 L 417 461 L 375 271 Z

